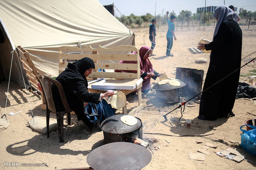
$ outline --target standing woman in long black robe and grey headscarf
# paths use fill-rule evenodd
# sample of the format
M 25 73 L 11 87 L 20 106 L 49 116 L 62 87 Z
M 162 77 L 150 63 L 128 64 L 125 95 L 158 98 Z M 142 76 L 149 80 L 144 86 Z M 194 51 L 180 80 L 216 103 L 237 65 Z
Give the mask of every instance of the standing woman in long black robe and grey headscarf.
M 211 50 L 203 91 L 241 67 L 242 30 L 234 20 L 235 13 L 221 5 L 215 9 L 213 16 L 217 20 L 213 41 L 209 44 L 201 43 L 197 47 L 200 50 Z M 239 74 L 240 70 L 235 71 L 202 93 L 198 119 L 216 120 L 234 116 L 232 108 Z

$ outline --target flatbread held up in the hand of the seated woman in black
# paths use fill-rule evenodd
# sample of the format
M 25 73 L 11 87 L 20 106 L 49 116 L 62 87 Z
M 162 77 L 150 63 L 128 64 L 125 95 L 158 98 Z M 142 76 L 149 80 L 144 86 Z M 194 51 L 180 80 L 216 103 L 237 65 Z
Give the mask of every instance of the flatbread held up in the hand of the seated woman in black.
M 121 109 L 126 104 L 126 96 L 123 92 L 117 92 L 109 98 L 108 103 L 111 104 L 112 108 Z

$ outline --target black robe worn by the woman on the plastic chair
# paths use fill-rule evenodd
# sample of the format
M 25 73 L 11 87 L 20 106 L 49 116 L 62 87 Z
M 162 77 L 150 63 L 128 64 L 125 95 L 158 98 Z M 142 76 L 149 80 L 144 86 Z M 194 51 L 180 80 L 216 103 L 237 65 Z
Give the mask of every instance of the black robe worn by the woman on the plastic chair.
M 93 68 L 94 64 L 89 67 Z M 84 73 L 85 70 L 90 69 L 89 67 L 83 67 L 81 64 L 80 69 L 79 64 L 76 64 L 76 62 L 69 63 L 68 69 L 59 74 L 56 80 L 62 84 L 69 107 L 76 113 L 78 120 L 83 120 L 87 126 L 92 126 L 84 114 L 83 102 L 99 103 L 100 93 L 90 93 L 87 91 L 88 83 L 82 72 Z M 57 111 L 64 111 L 59 91 L 55 85 L 52 85 L 52 96 Z

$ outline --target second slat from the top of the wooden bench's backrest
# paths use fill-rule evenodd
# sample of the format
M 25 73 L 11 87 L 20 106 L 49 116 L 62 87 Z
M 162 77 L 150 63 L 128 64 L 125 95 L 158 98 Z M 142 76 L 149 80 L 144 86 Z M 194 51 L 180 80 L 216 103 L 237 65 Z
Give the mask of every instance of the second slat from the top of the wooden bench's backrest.
M 114 61 L 137 61 L 137 54 L 58 54 L 58 59 L 64 60 L 80 60 L 83 57 L 89 57 L 92 60 L 114 60 Z

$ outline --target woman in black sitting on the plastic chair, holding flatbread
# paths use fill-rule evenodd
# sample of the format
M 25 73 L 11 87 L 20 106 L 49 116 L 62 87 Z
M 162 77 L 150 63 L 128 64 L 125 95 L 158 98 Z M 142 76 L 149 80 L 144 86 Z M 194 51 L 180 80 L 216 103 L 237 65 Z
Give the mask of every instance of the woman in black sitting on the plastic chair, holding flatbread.
M 112 96 L 114 92 L 88 92 L 86 77 L 95 69 L 93 60 L 84 57 L 69 63 L 67 67 L 56 80 L 62 84 L 69 107 L 76 113 L 78 120 L 82 120 L 91 129 L 93 124 L 99 125 L 107 117 L 115 115 L 116 109 L 102 100 L 104 97 Z M 63 111 L 64 106 L 55 85 L 52 85 L 52 95 L 57 111 Z

